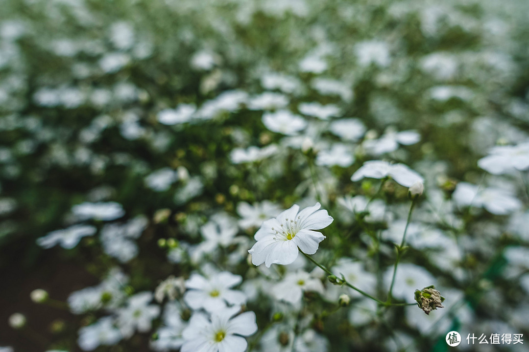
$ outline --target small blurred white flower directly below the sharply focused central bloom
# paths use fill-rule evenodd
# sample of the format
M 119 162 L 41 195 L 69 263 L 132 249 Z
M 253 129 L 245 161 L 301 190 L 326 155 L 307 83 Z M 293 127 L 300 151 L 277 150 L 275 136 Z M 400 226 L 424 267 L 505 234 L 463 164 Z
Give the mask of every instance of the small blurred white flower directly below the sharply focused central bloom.
M 287 273 L 285 278 L 272 288 L 272 294 L 276 299 L 293 305 L 301 301 L 305 291 L 323 293 L 322 282 L 305 271 Z

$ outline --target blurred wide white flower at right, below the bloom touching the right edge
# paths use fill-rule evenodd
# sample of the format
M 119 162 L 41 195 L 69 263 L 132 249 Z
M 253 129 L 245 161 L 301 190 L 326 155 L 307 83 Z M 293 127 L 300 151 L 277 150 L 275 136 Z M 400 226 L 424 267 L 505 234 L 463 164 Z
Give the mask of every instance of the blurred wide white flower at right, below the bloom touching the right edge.
M 484 207 L 489 213 L 506 215 L 522 207 L 522 202 L 510 192 L 501 188 L 479 189 L 467 182 L 458 183 L 452 199 L 459 206 Z

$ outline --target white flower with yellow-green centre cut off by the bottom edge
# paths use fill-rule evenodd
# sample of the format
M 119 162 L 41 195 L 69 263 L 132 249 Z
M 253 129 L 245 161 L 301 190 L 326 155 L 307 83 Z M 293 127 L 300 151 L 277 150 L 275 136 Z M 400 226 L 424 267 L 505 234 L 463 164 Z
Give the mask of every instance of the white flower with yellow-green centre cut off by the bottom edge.
M 184 329 L 184 345 L 180 352 L 243 352 L 248 347 L 246 339 L 257 331 L 256 314 L 240 311 L 239 307 L 212 313 L 208 320 L 202 313 L 195 313 Z

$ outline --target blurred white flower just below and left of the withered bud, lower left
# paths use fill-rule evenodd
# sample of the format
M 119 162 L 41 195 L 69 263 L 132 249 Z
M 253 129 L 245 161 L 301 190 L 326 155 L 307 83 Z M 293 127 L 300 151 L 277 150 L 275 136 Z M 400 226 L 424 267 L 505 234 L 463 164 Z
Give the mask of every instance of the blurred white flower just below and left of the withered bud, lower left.
M 131 296 L 127 306 L 117 311 L 117 325 L 124 337 L 129 338 L 135 330 L 147 332 L 152 320 L 160 315 L 160 307 L 149 305 L 151 292 L 140 292 Z

